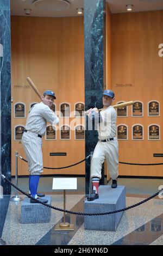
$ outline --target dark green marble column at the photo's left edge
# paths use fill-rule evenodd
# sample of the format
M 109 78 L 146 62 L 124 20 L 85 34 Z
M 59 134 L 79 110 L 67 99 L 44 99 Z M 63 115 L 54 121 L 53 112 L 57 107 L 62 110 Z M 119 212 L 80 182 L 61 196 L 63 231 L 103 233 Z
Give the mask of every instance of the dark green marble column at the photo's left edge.
M 10 76 L 10 0 L 0 0 L 0 133 L 1 172 L 11 178 L 11 76 Z M 10 194 L 11 186 L 1 179 L 3 193 Z

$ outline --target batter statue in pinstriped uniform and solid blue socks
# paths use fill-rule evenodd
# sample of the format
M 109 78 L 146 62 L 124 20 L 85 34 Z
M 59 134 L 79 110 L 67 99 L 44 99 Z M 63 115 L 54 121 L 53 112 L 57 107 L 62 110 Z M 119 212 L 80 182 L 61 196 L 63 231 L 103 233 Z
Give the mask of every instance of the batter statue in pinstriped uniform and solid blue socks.
M 40 175 L 43 172 L 42 162 L 42 136 L 45 135 L 47 122 L 58 124 L 59 119 L 52 111 L 54 92 L 46 90 L 41 96 L 42 102 L 35 104 L 29 111 L 26 128 L 22 136 L 22 145 L 27 156 L 29 167 L 29 194 L 33 198 L 38 198 L 40 202 L 47 203 L 48 200 L 42 199 L 45 194 L 37 193 Z M 30 203 L 39 203 L 30 199 Z

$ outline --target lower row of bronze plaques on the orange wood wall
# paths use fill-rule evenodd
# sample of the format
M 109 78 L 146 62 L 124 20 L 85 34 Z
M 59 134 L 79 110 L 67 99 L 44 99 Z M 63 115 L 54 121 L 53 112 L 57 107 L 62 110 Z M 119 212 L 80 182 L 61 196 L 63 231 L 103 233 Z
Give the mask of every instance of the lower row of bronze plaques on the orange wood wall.
M 18 125 L 15 127 L 14 139 L 21 141 L 24 132 L 24 126 Z M 74 131 L 75 139 L 85 139 L 85 129 L 83 125 L 78 125 Z M 45 139 L 54 140 L 57 139 L 57 132 L 53 130 L 52 125 L 47 126 Z M 60 127 L 60 139 L 71 139 L 70 126 L 63 125 Z M 117 139 L 128 139 L 128 126 L 121 124 L 117 126 Z M 135 124 L 132 126 L 132 139 L 136 141 L 143 140 L 143 126 Z M 151 124 L 148 126 L 148 139 L 160 140 L 160 126 L 157 124 Z

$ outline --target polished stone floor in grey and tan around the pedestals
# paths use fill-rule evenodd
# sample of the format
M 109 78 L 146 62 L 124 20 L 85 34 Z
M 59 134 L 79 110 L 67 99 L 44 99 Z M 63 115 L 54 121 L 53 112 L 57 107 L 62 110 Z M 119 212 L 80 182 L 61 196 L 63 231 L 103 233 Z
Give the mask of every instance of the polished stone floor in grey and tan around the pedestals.
M 78 178 L 78 183 L 81 183 L 79 191 L 66 193 L 67 210 L 83 212 L 83 180 Z M 23 179 L 22 184 L 24 181 Z M 18 187 L 22 186 L 21 179 L 18 184 Z M 133 179 L 118 179 L 118 184 L 126 185 L 126 204 L 129 206 L 158 191 L 158 187 L 163 185 L 163 180 L 135 179 L 134 182 Z M 131 193 L 131 184 L 134 193 Z M 40 191 L 47 190 L 43 190 L 42 186 Z M 62 193 L 53 192 L 51 197 L 53 206 L 63 208 Z M 74 231 L 55 231 L 55 225 L 61 223 L 63 217 L 63 213 L 56 210 L 52 210 L 49 223 L 22 224 L 21 204 L 22 202 L 9 202 L 8 196 L 0 199 L 0 234 L 7 245 L 163 245 L 163 200 L 158 197 L 125 211 L 117 231 L 85 230 L 84 217 L 72 214 L 66 214 L 66 222 L 74 224 Z

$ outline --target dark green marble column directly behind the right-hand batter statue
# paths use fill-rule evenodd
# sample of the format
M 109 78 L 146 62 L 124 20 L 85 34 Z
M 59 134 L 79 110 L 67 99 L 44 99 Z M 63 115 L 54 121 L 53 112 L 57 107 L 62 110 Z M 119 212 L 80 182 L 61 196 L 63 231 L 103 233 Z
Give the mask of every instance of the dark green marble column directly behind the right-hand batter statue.
M 105 68 L 105 0 L 84 0 L 85 110 L 102 108 Z M 96 105 L 95 105 L 96 103 Z M 85 131 L 85 155 L 94 150 L 96 130 Z M 89 193 L 90 161 L 86 161 L 86 194 Z M 104 168 L 101 184 L 104 184 Z

